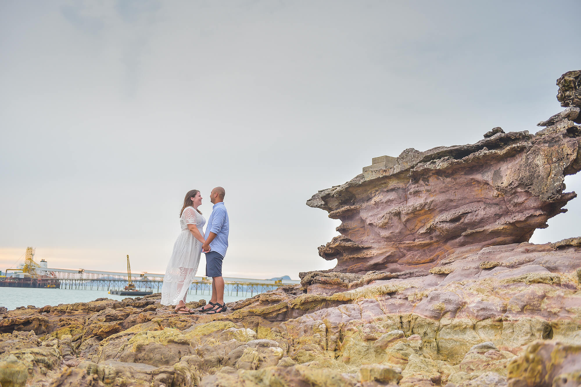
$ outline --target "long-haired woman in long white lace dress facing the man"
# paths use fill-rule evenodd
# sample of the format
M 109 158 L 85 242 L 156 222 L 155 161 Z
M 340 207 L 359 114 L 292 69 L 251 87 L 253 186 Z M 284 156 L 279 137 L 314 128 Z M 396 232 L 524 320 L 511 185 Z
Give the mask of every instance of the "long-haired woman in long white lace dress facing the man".
M 163 277 L 162 305 L 175 305 L 175 312 L 180 314 L 192 312 L 185 306 L 185 298 L 198 271 L 202 245 L 206 242 L 202 230 L 206 219 L 198 209 L 201 204 L 200 191 L 191 190 L 186 194 L 180 212 L 181 233 L 174 243 Z

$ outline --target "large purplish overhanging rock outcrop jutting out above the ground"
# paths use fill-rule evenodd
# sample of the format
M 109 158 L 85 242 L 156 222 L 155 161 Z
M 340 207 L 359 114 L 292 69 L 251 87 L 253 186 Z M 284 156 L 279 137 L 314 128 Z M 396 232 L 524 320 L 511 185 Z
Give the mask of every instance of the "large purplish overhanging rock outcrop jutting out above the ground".
M 581 169 L 581 127 L 567 117 L 551 117 L 535 135 L 495 128 L 475 144 L 406 149 L 319 191 L 307 205 L 342 220 L 341 235 L 319 254 L 337 259 L 335 272 L 426 272 L 446 258 L 528 241 L 576 197 L 563 182 Z

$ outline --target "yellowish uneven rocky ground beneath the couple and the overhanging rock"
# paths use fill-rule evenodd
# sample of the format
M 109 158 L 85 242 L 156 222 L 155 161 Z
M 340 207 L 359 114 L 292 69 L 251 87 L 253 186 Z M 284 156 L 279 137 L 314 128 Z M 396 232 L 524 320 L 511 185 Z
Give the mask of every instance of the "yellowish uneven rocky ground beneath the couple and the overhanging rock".
M 300 286 L 230 303 L 215 316 L 172 314 L 159 295 L 5 311 L 0 384 L 516 387 L 579 380 L 576 271 L 472 266 L 390 279 L 309 273 Z M 343 291 L 320 291 L 339 281 Z

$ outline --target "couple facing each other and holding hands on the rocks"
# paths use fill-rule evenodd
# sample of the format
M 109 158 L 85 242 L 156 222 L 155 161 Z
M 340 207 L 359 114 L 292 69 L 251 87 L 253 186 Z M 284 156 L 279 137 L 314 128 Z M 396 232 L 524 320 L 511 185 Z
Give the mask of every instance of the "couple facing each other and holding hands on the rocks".
M 198 209 L 202 204 L 200 191 L 191 190 L 185 195 L 180 212 L 181 233 L 174 243 L 162 287 L 162 305 L 175 305 L 175 313 L 214 314 L 226 310 L 222 261 L 228 249 L 230 225 L 228 212 L 224 206 L 224 196 L 225 191 L 222 187 L 216 187 L 211 191 L 210 201 L 214 207 L 204 232 L 206 218 Z M 194 311 L 185 306 L 185 298 L 189 285 L 198 271 L 202 251 L 206 254 L 206 276 L 212 277 L 212 296 L 209 303 Z

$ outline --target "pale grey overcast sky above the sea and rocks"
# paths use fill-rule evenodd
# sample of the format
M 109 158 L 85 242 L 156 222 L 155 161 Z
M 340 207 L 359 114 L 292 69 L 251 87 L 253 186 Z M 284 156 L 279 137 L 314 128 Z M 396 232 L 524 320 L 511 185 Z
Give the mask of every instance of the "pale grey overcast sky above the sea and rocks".
M 536 132 L 581 68 L 571 1 L 0 1 L 0 269 L 163 273 L 226 190 L 224 276 L 328 269 L 306 206 L 379 155 Z M 581 179 L 566 179 L 581 193 Z M 532 241 L 581 236 L 581 205 Z M 21 262 L 21 261 L 20 261 Z M 203 274 L 205 261 L 198 274 Z

